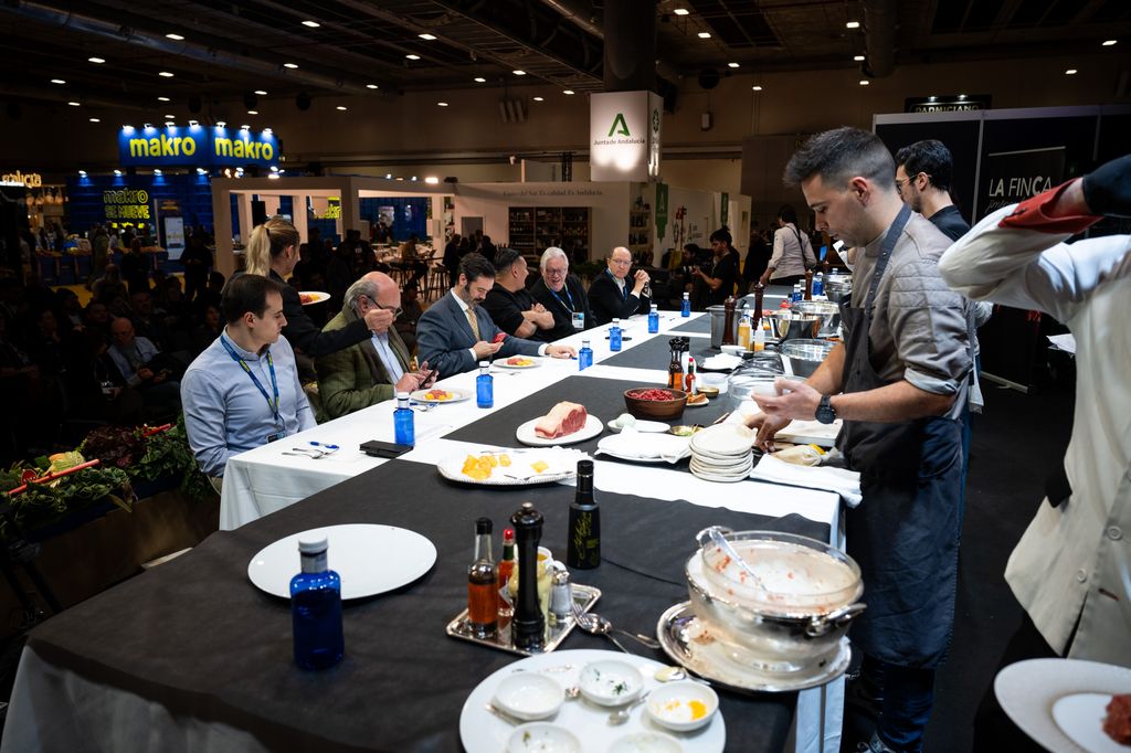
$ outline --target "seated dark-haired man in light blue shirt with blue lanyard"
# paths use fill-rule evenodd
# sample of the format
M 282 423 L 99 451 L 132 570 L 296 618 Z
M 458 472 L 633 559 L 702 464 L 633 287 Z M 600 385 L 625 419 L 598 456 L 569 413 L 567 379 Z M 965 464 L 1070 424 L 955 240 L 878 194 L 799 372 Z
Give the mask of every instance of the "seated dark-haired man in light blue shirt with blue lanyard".
M 282 286 L 241 275 L 224 288 L 221 313 L 227 326 L 181 380 L 189 445 L 213 478 L 233 455 L 314 426 L 294 350 L 279 337 Z

